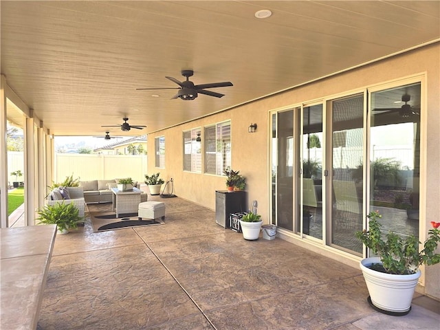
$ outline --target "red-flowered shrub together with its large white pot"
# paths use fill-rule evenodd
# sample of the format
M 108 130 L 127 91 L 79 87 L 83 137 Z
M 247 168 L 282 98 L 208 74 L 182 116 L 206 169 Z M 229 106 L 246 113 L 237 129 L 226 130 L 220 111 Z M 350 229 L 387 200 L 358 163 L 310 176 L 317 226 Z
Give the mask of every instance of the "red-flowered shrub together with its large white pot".
M 431 221 L 433 229 L 419 251 L 419 240 L 414 236 L 405 239 L 395 232 L 382 235 L 377 219 L 378 211 L 368 214 L 369 230 L 356 232 L 355 236 L 371 249 L 377 257 L 362 259 L 360 268 L 369 289 L 369 303 L 384 314 L 406 315 L 410 311 L 412 296 L 421 275 L 419 266 L 440 262 L 435 253 L 440 241 L 440 222 Z

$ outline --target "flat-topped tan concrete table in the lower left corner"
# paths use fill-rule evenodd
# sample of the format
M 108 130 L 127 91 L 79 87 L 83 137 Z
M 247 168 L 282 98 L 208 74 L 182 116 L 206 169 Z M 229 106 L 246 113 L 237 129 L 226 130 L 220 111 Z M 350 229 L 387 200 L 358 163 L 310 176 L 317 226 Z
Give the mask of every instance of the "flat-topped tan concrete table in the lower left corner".
M 56 225 L 0 229 L 0 329 L 36 329 Z

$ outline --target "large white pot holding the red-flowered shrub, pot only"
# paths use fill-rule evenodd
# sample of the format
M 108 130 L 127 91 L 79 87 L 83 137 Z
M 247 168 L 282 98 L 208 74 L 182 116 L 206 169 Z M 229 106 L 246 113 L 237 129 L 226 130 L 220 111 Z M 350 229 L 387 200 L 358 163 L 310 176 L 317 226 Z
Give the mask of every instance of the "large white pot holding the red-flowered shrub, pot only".
M 371 270 L 368 266 L 372 263 L 381 263 L 380 258 L 366 258 L 360 261 L 360 269 L 369 289 L 371 303 L 377 309 L 391 314 L 408 314 L 421 275 L 420 270 L 409 275 L 386 274 Z

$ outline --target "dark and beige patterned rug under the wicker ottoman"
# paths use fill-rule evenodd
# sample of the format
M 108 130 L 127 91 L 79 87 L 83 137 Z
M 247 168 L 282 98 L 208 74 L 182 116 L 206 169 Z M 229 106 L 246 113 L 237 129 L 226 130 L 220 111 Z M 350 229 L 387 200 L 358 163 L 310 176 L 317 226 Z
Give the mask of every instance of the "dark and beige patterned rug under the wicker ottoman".
M 137 213 L 120 214 L 119 218 L 116 218 L 116 214 L 114 212 L 107 214 L 91 214 L 91 227 L 93 228 L 94 232 L 163 224 L 164 221 L 159 219 L 139 220 L 137 218 Z

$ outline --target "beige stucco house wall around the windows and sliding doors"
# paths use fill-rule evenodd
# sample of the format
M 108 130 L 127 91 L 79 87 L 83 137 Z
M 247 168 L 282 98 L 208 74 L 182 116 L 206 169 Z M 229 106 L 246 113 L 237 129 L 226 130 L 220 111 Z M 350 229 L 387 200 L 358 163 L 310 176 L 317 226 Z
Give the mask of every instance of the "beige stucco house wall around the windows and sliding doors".
M 425 230 L 422 230 L 423 234 L 426 234 L 430 228 L 430 221 L 439 221 L 440 214 L 439 54 L 440 43 L 435 43 L 418 50 L 394 56 L 393 58 L 297 87 L 283 94 L 245 104 L 230 111 L 224 111 L 195 120 L 194 122 L 152 133 L 148 136 L 148 150 L 154 150 L 154 137 L 164 135 L 166 141 L 166 161 L 165 168 L 159 169 L 155 168 L 154 157 L 148 157 L 148 169 L 150 169 L 148 172 L 159 171 L 164 179 L 173 177 L 175 180 L 175 194 L 177 196 L 214 210 L 214 191 L 225 189 L 225 180 L 223 177 L 204 175 L 202 173 L 186 173 L 182 170 L 182 131 L 203 127 L 214 122 L 231 120 L 232 168 L 240 170 L 243 175 L 248 177 L 248 203 L 257 200 L 259 202 L 259 213 L 267 221 L 270 199 L 268 179 L 269 111 L 283 107 L 292 107 L 303 102 L 327 98 L 349 91 L 359 91 L 373 85 L 388 83 L 391 80 L 424 74 L 426 81 L 422 81 L 422 87 L 425 88 L 426 98 L 422 95 L 422 102 L 426 100 L 426 117 L 424 117 L 423 125 L 422 114 L 421 148 L 422 155 L 424 152 L 426 159 L 422 160 L 421 173 L 422 176 L 423 173 L 425 174 L 424 177 L 421 177 L 423 182 L 421 187 L 424 184 L 426 189 L 424 194 L 421 191 L 421 197 L 423 198 L 424 195 L 426 200 Z M 193 102 L 197 102 L 197 100 Z M 258 124 L 256 133 L 248 133 L 248 126 L 251 122 Z M 150 155 L 153 154 L 150 153 Z M 423 165 L 425 166 L 424 168 Z M 423 203 L 421 203 L 421 206 L 423 206 Z M 421 214 L 423 216 L 423 212 Z M 423 225 L 421 229 L 423 229 Z M 421 239 L 423 239 L 422 234 Z M 303 245 L 307 247 L 307 243 L 303 243 Z M 314 250 L 316 249 L 314 247 Z M 336 255 L 336 252 L 320 249 L 320 253 L 341 259 L 340 255 Z M 423 270 L 422 281 L 426 283 L 425 293 L 438 299 L 440 299 L 439 278 L 440 265 L 426 267 Z

